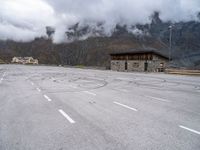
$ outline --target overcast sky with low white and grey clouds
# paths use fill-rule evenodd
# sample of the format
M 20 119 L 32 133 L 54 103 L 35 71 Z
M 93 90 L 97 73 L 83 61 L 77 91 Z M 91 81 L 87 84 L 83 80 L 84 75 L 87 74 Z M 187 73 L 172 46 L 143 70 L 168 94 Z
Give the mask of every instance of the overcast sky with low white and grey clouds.
M 163 21 L 197 20 L 200 0 L 0 0 L 0 39 L 29 41 L 45 35 L 45 27 L 56 28 L 55 42 L 77 22 L 104 22 L 105 32 L 117 23 L 149 23 L 154 11 Z

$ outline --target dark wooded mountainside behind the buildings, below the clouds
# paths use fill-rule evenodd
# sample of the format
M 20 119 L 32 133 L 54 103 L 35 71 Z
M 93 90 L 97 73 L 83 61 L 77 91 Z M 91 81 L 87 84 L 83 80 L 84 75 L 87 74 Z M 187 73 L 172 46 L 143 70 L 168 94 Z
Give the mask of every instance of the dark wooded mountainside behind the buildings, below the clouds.
M 70 43 L 53 44 L 51 39 L 31 42 L 0 41 L 0 59 L 10 62 L 13 56 L 33 56 L 43 64 L 103 66 L 109 68 L 109 53 L 128 49 L 156 49 L 169 53 L 169 26 L 172 26 L 172 64 L 175 67 L 200 68 L 200 22 L 163 22 L 155 12 L 145 25 L 116 25 L 111 35 L 79 23 L 66 31 Z

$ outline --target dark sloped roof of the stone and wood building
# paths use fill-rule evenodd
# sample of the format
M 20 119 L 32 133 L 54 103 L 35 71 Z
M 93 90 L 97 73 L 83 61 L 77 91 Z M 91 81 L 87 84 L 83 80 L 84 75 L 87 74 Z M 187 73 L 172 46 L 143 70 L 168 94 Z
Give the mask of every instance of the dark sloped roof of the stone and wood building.
M 113 55 L 145 54 L 145 53 L 152 53 L 152 54 L 161 56 L 163 58 L 169 59 L 167 54 L 162 53 L 156 49 L 129 49 L 129 50 L 113 52 L 113 53 L 110 53 L 110 55 L 113 56 Z

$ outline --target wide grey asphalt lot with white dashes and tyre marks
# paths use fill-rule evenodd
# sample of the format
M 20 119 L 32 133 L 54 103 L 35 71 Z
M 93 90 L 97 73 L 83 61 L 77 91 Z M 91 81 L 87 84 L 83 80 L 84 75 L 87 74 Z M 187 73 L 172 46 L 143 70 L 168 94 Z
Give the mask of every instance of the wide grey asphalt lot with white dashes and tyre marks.
M 0 150 L 151 149 L 200 149 L 200 77 L 0 65 Z

